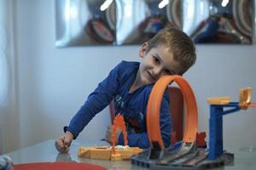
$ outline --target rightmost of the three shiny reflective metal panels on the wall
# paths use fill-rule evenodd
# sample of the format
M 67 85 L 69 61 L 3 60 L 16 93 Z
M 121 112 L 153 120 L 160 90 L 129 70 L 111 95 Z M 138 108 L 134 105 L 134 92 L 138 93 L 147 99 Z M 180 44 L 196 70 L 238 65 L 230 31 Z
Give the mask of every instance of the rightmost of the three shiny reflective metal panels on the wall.
M 253 42 L 253 0 L 185 1 L 183 31 L 195 43 Z

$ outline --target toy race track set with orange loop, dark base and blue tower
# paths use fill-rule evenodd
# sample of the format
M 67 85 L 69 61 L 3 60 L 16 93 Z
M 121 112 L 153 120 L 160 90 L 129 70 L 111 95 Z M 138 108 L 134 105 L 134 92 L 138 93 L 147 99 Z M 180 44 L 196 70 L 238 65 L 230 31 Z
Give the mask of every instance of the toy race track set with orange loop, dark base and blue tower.
M 171 82 L 181 88 L 186 106 L 186 127 L 183 140 L 169 148 L 165 148 L 160 135 L 160 103 L 163 94 Z M 223 150 L 223 116 L 248 107 L 251 103 L 251 88 L 241 89 L 240 102 L 230 102 L 229 98 L 208 99 L 211 107 L 209 129 L 209 148 L 198 147 L 196 135 L 198 127 L 198 111 L 195 94 L 189 83 L 180 76 L 164 76 L 154 84 L 148 99 L 147 128 L 151 148 L 131 158 L 135 165 L 150 169 L 204 169 L 221 167 L 234 161 L 234 155 Z M 224 109 L 225 108 L 225 109 Z M 226 108 L 231 108 L 227 110 Z

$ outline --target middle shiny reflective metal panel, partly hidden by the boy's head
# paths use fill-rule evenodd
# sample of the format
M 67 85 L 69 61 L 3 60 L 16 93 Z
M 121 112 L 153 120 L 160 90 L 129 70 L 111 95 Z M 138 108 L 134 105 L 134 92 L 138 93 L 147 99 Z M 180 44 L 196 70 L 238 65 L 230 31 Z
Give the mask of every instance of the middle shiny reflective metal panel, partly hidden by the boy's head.
M 116 2 L 116 41 L 119 45 L 147 42 L 165 27 L 180 28 L 181 17 L 178 16 L 180 0 L 168 1 L 168 3 L 161 3 L 159 0 L 118 0 Z

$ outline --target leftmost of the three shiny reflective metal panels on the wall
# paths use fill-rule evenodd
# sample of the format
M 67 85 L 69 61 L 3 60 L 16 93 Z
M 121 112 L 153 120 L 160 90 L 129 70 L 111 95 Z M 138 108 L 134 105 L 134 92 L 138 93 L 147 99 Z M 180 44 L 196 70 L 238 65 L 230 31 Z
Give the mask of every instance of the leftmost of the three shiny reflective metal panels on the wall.
M 112 45 L 115 42 L 115 2 L 62 0 L 55 3 L 57 47 Z

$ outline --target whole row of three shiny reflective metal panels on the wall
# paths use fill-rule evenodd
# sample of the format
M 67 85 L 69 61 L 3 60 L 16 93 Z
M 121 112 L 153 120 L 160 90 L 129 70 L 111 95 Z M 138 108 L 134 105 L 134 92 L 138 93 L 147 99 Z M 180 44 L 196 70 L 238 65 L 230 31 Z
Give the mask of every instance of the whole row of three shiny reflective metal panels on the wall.
M 195 43 L 251 44 L 254 1 L 55 0 L 55 45 L 141 44 L 165 27 Z

